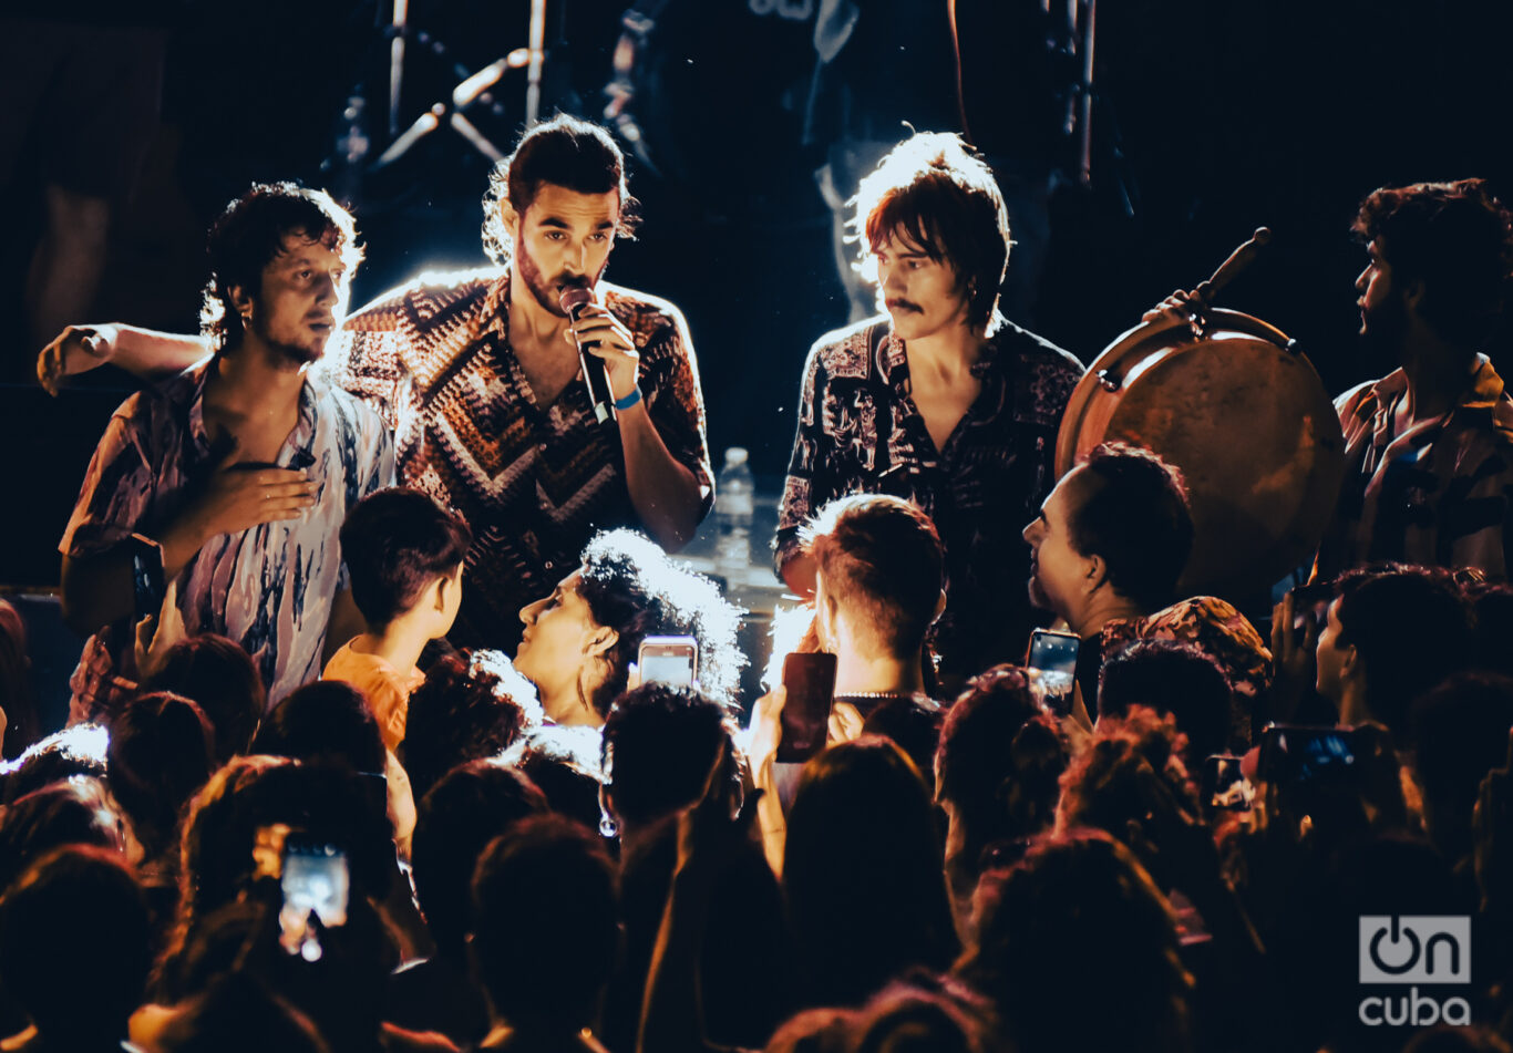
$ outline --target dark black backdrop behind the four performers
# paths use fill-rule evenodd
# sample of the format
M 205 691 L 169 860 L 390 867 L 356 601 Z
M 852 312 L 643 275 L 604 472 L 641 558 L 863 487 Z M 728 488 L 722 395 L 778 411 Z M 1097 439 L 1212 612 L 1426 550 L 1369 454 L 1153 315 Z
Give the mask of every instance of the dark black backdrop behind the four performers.
M 1020 2 L 958 3 L 968 115 L 979 141 L 996 136 L 999 157 L 1064 162 L 1064 148 L 1039 133 L 1041 118 L 1058 112 L 1065 74 L 1035 38 L 1038 5 Z M 767 487 L 787 463 L 803 354 L 846 321 L 829 213 L 811 176 L 831 126 L 819 121 L 808 139 L 802 129 L 812 15 L 791 21 L 778 11 L 812 6 L 667 6 L 646 67 L 655 91 L 643 120 L 663 171 L 631 160 L 645 224 L 637 241 L 616 248 L 610 269 L 611 280 L 682 307 L 716 463 L 725 446 L 749 446 Z M 1363 380 L 1351 289 L 1363 253 L 1348 236 L 1356 203 L 1384 183 L 1477 174 L 1507 185 L 1508 8 L 1104 0 L 1092 186 L 1068 182 L 1052 195 L 1044 272 L 1033 295 L 1021 297 L 1017 321 L 1091 362 L 1142 309 L 1207 277 L 1265 224 L 1272 247 L 1221 304 L 1297 337 L 1331 392 Z M 955 76 L 941 62 L 941 9 L 934 0 L 861 3 L 849 76 L 878 110 L 896 107 L 884 127 L 900 135 L 905 116 L 932 120 L 930 104 L 917 100 L 938 100 Z M 206 224 L 250 180 L 357 186 L 322 171 L 322 160 L 353 95 L 369 100 L 368 132 L 383 139 L 387 45 L 375 23 L 387 20 L 389 5 L 269 0 L 165 11 L 163 123 L 117 224 L 94 318 L 188 330 Z M 563 0 L 548 11 L 543 110 L 598 118 L 623 3 Z M 523 0 L 412 0 L 413 24 L 448 54 L 412 45 L 404 123 L 446 97 L 454 62 L 478 68 L 523 45 L 527 12 Z M 24 23 L 6 24 L 24 32 Z M 474 116 L 508 151 L 523 120 L 523 74 L 508 74 L 496 97 L 501 113 Z M 368 263 L 354 304 L 421 269 L 483 260 L 487 169 L 443 130 L 362 180 L 356 209 Z M 23 336 L 20 289 L 38 201 L 39 176 L 23 163 L 0 198 L 0 362 L 11 381 L 0 389 L 9 481 L 0 584 L 47 587 L 57 581 L 56 543 L 79 480 L 130 383 L 106 369 L 59 399 L 27 383 L 36 348 Z M 1501 343 L 1492 348 L 1499 357 Z

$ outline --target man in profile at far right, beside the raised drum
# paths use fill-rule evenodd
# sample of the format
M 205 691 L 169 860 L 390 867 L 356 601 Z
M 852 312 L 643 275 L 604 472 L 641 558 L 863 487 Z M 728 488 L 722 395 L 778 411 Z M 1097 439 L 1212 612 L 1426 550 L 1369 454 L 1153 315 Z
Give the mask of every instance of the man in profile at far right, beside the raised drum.
M 1360 334 L 1398 368 L 1336 399 L 1347 469 L 1316 576 L 1380 560 L 1508 576 L 1513 398 L 1478 346 L 1502 307 L 1510 219 L 1474 179 L 1362 203 Z

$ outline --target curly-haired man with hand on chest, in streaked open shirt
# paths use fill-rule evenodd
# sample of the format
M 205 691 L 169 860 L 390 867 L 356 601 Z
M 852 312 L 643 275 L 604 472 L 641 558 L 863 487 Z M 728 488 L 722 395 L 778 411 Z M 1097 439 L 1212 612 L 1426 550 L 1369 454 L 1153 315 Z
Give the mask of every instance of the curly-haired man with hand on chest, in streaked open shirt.
M 241 643 L 269 705 L 319 676 L 328 634 L 359 628 L 339 531 L 393 481 L 393 449 L 377 413 L 312 369 L 356 238 L 327 194 L 290 183 L 254 185 L 212 227 L 201 318 L 215 354 L 115 412 L 59 546 L 65 617 L 89 635 L 73 719 L 130 699 L 148 672 L 132 623 L 159 604 L 165 623 Z

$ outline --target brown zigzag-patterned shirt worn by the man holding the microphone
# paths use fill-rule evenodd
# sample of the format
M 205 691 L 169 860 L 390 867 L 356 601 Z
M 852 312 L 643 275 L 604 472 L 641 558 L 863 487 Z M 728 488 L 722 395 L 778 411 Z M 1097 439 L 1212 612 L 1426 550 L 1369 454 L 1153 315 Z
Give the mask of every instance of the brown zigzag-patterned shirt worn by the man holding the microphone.
M 714 478 L 704 395 L 682 315 L 670 303 L 599 283 L 604 306 L 635 337 L 638 384 L 669 452 Z M 336 381 L 395 430 L 399 478 L 472 526 L 463 608 L 448 638 L 514 651 L 519 611 L 578 567 L 598 530 L 640 526 L 614 424 L 598 424 L 583 383 L 537 405 L 510 349 L 502 269 L 422 275 L 346 321 Z M 702 514 L 702 513 L 701 513 Z

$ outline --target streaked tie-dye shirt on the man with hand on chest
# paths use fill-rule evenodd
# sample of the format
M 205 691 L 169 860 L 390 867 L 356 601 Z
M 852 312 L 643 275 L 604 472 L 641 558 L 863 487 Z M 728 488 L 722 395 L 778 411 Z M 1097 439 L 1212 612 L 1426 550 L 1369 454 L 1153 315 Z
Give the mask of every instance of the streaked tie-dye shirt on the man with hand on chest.
M 97 555 L 132 534 L 157 537 L 204 486 L 218 460 L 203 410 L 212 362 L 138 392 L 115 412 L 59 543 L 64 555 Z M 393 440 L 372 408 L 309 371 L 300 421 L 277 464 L 310 472 L 319 484 L 315 505 L 298 519 L 212 537 L 177 579 L 185 631 L 241 643 L 269 707 L 321 675 L 331 604 L 346 587 L 342 520 L 359 499 L 393 484 Z M 129 620 L 89 637 L 70 681 L 71 719 L 109 717 L 130 697 L 132 649 Z

